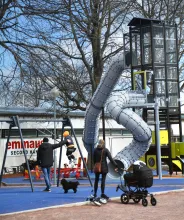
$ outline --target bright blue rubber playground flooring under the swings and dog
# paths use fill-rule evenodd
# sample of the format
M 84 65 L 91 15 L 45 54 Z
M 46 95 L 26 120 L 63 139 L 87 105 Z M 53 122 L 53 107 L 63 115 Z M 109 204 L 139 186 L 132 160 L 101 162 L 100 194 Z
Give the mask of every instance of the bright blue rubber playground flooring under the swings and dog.
M 23 181 L 23 183 L 25 183 L 25 180 L 20 178 L 14 178 L 14 180 L 6 179 L 6 182 L 8 181 L 10 183 L 15 183 L 16 181 L 20 183 L 20 181 Z M 32 192 L 31 186 L 29 185 L 30 182 L 26 182 L 28 186 L 21 186 L 20 184 L 18 187 L 3 186 L 0 188 L 0 214 L 84 202 L 92 191 L 89 180 L 79 180 L 80 185 L 78 186 L 77 193 L 73 193 L 73 191 L 70 190 L 67 194 L 64 193 L 61 187 L 55 186 L 52 187 L 52 192 L 43 192 L 45 188 L 44 182 L 40 184 L 40 182 L 34 181 L 34 191 Z M 94 182 L 94 179 L 92 179 L 92 182 Z M 107 179 L 105 193 L 111 198 L 120 197 L 122 191 L 118 190 L 118 192 L 116 192 L 116 186 L 119 183 L 120 179 Z M 154 179 L 153 186 L 148 188 L 148 191 L 154 193 L 179 189 L 184 189 L 184 178 L 181 177 L 163 178 L 162 180 Z M 98 195 L 100 195 L 100 188 Z

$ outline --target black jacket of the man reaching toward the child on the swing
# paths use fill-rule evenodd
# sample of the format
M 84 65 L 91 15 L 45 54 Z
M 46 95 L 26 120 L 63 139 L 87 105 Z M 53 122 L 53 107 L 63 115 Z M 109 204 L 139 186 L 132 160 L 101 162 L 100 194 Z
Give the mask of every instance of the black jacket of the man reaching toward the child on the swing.
M 41 167 L 53 166 L 53 150 L 66 144 L 67 141 L 61 141 L 59 144 L 50 144 L 43 142 L 37 151 L 37 163 Z

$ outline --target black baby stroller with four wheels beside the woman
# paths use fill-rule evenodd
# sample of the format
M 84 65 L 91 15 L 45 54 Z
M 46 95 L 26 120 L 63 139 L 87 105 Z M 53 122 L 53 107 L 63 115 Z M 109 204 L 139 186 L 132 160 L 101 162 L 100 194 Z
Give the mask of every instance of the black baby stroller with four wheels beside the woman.
M 129 200 L 132 199 L 135 203 L 139 203 L 142 200 L 142 205 L 147 206 L 147 196 L 150 196 L 150 202 L 152 206 L 155 206 L 157 201 L 153 194 L 148 193 L 147 188 L 153 185 L 153 173 L 150 168 L 146 166 L 144 162 L 134 163 L 133 173 L 124 174 L 125 185 L 121 184 L 117 186 L 116 191 L 119 189 L 124 193 L 121 195 L 121 202 L 128 204 Z

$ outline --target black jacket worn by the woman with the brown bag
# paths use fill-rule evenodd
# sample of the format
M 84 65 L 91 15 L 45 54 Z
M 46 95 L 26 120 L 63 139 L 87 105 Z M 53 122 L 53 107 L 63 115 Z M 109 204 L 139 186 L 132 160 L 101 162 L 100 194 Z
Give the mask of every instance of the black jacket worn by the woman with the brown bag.
M 102 155 L 102 150 L 103 150 L 103 155 Z M 94 150 L 94 155 L 93 155 L 94 164 L 96 162 L 100 162 L 101 155 L 102 155 L 102 162 L 101 162 L 102 173 L 108 173 L 107 158 L 114 165 L 114 168 L 117 167 L 117 164 L 113 160 L 110 151 L 107 148 L 102 148 L 102 147 L 98 147 L 98 146 Z

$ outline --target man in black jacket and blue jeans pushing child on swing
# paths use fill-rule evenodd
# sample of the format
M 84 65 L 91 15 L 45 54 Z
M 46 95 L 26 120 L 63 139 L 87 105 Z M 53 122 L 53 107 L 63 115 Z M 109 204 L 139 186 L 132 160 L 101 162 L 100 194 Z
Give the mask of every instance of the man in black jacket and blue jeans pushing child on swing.
M 46 183 L 45 192 L 51 192 L 50 168 L 53 166 L 53 150 L 66 144 L 67 140 L 61 141 L 58 144 L 50 144 L 47 137 L 43 138 L 43 143 L 37 151 L 37 163 L 41 167 Z

